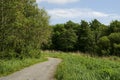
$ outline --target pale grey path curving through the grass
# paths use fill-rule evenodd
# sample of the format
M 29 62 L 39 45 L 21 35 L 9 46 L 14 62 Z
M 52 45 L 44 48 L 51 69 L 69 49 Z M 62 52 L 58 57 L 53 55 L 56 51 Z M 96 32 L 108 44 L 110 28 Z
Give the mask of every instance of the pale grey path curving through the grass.
M 48 61 L 35 64 L 0 80 L 54 80 L 54 73 L 60 59 L 49 58 Z

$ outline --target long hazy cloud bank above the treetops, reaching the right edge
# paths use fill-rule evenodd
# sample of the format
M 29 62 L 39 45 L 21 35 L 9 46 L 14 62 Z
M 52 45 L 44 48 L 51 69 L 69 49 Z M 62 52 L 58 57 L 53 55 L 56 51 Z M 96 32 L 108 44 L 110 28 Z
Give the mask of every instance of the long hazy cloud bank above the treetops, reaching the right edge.
M 71 9 L 50 9 L 47 10 L 48 14 L 51 16 L 52 20 L 59 19 L 100 19 L 111 21 L 114 19 L 120 19 L 120 15 L 103 13 L 99 11 L 94 11 L 92 9 L 83 8 L 71 8 Z

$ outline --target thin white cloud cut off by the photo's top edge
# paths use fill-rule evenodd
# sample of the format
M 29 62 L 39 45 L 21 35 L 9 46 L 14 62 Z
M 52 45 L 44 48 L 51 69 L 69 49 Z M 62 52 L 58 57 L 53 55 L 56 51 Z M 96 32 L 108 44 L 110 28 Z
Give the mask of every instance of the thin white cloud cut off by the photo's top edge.
M 73 3 L 78 2 L 79 0 L 36 0 L 37 3 L 40 2 L 48 2 L 53 4 L 67 4 L 67 3 Z

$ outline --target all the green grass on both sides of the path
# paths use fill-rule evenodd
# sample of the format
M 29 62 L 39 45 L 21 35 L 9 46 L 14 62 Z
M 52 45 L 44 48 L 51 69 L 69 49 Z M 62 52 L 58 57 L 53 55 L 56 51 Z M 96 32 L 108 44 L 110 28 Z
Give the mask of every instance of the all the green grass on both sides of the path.
M 24 67 L 47 60 L 46 57 L 61 58 L 56 70 L 56 80 L 120 80 L 119 57 L 90 57 L 89 55 L 42 52 L 39 59 L 0 60 L 0 76 L 5 76 Z

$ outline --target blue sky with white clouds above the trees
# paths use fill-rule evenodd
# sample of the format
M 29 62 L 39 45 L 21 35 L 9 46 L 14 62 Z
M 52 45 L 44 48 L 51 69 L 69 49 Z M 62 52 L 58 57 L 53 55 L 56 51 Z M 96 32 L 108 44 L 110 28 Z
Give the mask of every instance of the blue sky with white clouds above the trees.
M 120 0 L 36 0 L 50 16 L 50 24 L 98 19 L 103 24 L 120 20 Z

